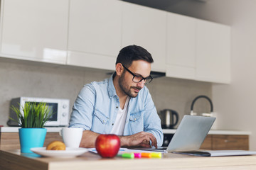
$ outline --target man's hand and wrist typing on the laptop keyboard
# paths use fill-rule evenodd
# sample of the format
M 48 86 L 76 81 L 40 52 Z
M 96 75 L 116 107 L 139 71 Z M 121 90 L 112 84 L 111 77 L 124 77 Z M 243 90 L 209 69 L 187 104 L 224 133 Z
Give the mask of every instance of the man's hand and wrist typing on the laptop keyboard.
M 121 147 L 151 147 L 157 148 L 156 137 L 149 132 L 138 132 L 134 135 L 120 137 Z M 150 145 L 151 141 L 151 145 Z

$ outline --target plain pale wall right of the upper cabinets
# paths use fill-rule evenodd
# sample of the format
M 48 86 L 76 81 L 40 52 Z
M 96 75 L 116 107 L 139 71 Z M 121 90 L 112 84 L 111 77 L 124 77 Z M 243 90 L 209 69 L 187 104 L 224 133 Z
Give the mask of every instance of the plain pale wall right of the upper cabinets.
M 252 150 L 256 150 L 255 9 L 255 0 L 208 0 L 206 3 L 179 4 L 169 10 L 232 26 L 232 82 L 213 85 L 213 104 L 218 112 L 219 128 L 252 132 Z

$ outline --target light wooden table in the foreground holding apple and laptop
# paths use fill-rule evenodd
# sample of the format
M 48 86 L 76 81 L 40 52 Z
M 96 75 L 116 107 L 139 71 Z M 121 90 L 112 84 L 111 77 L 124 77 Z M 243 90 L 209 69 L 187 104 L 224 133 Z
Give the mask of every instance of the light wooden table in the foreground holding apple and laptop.
M 0 169 L 256 169 L 256 156 L 195 157 L 182 154 L 163 154 L 161 159 L 102 159 L 86 152 L 81 157 L 50 158 L 21 154 L 19 150 L 0 150 Z

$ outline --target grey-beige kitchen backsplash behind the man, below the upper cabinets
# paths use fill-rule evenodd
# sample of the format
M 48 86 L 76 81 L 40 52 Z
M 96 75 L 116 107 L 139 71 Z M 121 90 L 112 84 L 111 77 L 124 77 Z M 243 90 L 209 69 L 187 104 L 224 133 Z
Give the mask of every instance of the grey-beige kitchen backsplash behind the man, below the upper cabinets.
M 84 84 L 108 77 L 110 75 L 106 70 L 0 57 L 0 125 L 6 125 L 9 118 L 11 98 L 18 96 L 68 98 L 71 111 L 75 98 Z M 156 78 L 147 87 L 158 112 L 170 108 L 177 111 L 180 117 L 190 113 L 191 102 L 196 96 L 206 95 L 211 98 L 212 89 L 210 83 L 167 77 Z M 194 112 L 209 111 L 210 106 L 207 101 L 202 99 L 196 102 Z

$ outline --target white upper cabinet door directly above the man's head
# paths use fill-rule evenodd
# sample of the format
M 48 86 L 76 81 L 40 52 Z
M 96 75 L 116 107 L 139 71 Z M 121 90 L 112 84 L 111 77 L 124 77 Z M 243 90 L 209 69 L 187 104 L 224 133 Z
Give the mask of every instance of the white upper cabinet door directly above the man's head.
M 151 53 L 152 70 L 166 72 L 166 11 L 123 3 L 122 47 L 139 45 Z

